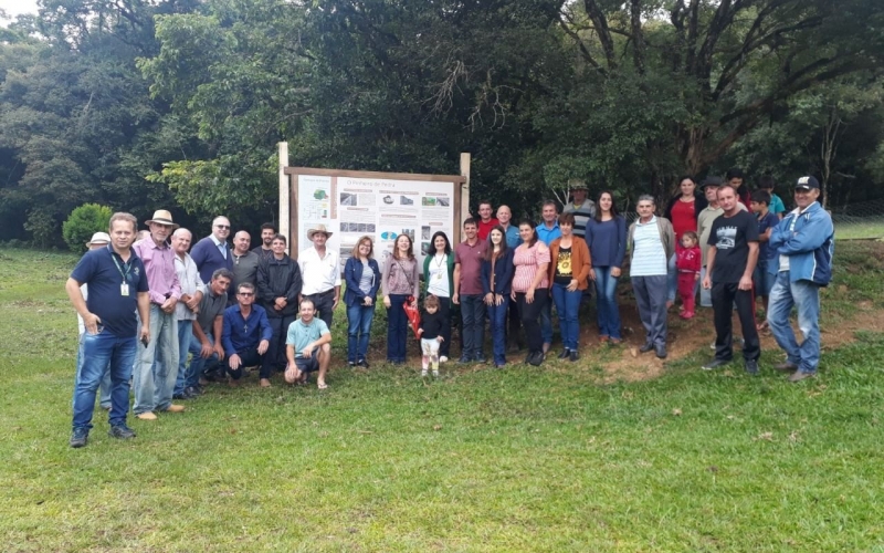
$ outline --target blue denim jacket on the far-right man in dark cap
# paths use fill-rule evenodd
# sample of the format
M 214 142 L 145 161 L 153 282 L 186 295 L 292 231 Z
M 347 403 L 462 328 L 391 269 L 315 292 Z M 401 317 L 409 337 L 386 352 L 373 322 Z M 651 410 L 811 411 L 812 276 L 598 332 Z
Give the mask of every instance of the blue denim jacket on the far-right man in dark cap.
M 789 255 L 789 282 L 809 280 L 825 286 L 832 280 L 834 254 L 834 226 L 832 218 L 814 201 L 803 213 L 787 215 L 770 231 L 771 254 L 768 272 L 780 270 L 780 255 Z

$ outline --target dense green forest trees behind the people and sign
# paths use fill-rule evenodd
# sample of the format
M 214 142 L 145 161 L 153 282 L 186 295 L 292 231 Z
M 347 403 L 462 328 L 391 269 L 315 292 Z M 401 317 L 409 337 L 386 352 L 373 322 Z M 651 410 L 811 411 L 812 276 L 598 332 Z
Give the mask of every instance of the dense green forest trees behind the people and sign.
M 86 202 L 255 229 L 293 166 L 456 174 L 516 216 L 744 167 L 884 215 L 878 0 L 40 0 L 0 28 L 0 240 Z M 875 212 L 874 206 L 883 206 Z

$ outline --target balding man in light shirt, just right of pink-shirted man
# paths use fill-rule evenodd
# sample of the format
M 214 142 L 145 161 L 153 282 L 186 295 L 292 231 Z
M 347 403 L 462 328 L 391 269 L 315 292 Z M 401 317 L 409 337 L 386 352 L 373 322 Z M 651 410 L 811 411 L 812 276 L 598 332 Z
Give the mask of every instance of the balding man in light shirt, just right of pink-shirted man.
M 186 392 L 187 388 L 187 354 L 190 351 L 190 341 L 193 336 L 193 322 L 199 313 L 204 284 L 197 271 L 197 264 L 187 250 L 193 234 L 187 229 L 177 229 L 172 233 L 172 250 L 175 251 L 175 271 L 181 284 L 181 301 L 175 305 L 175 319 L 178 322 L 178 376 L 175 380 L 172 398 L 190 399 L 194 397 Z

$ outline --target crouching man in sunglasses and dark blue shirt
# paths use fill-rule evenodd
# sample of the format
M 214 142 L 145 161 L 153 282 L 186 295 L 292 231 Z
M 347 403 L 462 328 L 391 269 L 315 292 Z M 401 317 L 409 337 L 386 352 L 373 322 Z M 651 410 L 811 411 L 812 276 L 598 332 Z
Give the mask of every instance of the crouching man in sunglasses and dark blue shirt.
M 254 305 L 255 286 L 252 283 L 243 282 L 236 286 L 236 302 L 224 311 L 221 331 L 228 374 L 233 378 L 231 386 L 239 385 L 244 367 L 261 365 L 273 336 L 267 312 L 261 305 Z

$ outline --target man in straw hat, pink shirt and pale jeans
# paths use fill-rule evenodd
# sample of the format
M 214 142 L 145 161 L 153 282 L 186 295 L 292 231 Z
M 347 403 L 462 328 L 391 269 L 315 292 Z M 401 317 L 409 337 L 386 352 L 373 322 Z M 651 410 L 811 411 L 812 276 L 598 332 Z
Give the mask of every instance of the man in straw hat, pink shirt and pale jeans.
M 135 362 L 133 413 L 141 420 L 156 420 L 155 410 L 180 413 L 185 406 L 172 404 L 178 377 L 178 320 L 175 307 L 181 299 L 181 283 L 175 269 L 175 251 L 166 240 L 178 228 L 172 215 L 160 209 L 147 221 L 150 238 L 131 247 L 141 258 L 150 286 L 150 340 L 141 341 Z M 156 364 L 156 367 L 155 367 Z

